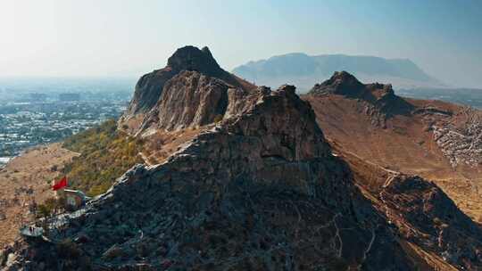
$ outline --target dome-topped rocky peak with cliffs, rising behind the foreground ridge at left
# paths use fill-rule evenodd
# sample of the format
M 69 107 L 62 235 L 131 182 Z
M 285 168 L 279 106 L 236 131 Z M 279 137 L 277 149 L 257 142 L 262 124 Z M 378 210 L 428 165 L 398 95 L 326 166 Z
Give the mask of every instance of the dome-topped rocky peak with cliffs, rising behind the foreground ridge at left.
M 207 47 L 200 50 L 185 46 L 170 56 L 165 68 L 138 80 L 120 127 L 127 126 L 132 134 L 137 134 L 158 120 L 162 123 L 155 127 L 167 130 L 205 125 L 217 116 L 222 118 L 229 103 L 229 89 L 254 88 L 222 70 Z

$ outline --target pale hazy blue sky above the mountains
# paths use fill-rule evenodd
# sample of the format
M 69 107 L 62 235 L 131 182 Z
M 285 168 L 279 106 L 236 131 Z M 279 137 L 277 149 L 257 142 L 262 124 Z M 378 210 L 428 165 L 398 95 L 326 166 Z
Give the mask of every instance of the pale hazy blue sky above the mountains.
M 231 70 L 274 54 L 409 58 L 482 88 L 482 1 L 0 0 L 0 76 L 140 76 L 182 45 Z

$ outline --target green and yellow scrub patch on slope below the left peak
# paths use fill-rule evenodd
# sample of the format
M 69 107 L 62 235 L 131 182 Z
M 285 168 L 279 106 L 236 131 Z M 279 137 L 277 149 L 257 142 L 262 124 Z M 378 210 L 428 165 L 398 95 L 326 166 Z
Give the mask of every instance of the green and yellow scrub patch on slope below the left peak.
M 69 186 L 89 196 L 104 193 L 126 170 L 143 162 L 138 155 L 143 143 L 119 131 L 113 119 L 69 137 L 63 147 L 80 153 L 63 168 Z

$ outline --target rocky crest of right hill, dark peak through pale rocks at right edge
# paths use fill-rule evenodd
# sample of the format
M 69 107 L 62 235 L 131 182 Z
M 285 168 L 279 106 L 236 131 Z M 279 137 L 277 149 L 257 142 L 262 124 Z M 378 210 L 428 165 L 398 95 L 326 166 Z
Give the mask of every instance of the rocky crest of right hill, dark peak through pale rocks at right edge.
M 478 167 L 482 162 L 482 113 L 476 109 L 404 99 L 395 95 L 390 85 L 362 84 L 345 71 L 335 72 L 327 81 L 316 84 L 306 96 L 324 99 L 327 95 L 355 100 L 357 111 L 380 127 L 386 128 L 387 120 L 395 117 L 420 121 L 453 168 L 462 164 Z

